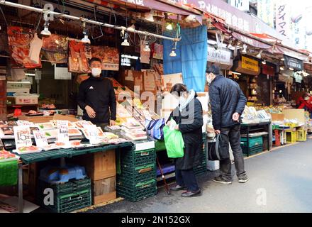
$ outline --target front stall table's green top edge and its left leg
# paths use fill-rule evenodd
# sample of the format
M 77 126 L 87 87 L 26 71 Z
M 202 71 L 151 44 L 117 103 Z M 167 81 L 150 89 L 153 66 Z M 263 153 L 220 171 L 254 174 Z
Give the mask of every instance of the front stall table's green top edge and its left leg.
M 49 150 L 40 153 L 20 155 L 20 162 L 18 162 L 18 212 L 23 213 L 23 165 L 28 165 L 35 162 L 42 162 L 46 160 L 53 160 L 62 157 L 70 158 L 77 155 L 85 155 L 88 153 L 106 152 L 107 150 L 120 149 L 131 146 L 132 143 L 127 142 L 116 145 L 104 145 L 94 148 Z

